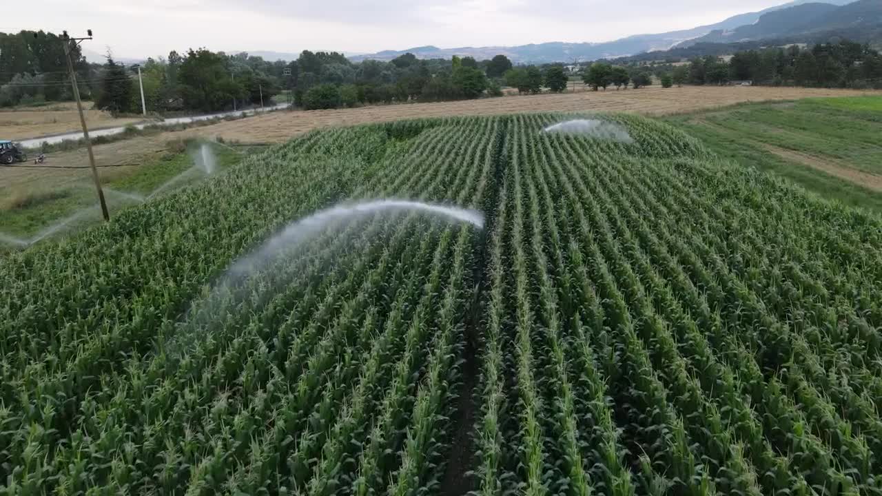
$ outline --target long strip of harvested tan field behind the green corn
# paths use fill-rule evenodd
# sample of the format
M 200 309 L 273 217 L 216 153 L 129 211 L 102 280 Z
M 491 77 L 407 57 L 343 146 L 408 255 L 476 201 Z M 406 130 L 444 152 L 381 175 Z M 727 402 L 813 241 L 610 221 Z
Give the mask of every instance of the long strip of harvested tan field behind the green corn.
M 415 117 L 491 116 L 518 112 L 632 112 L 664 115 L 721 107 L 744 101 L 796 100 L 821 96 L 882 94 L 842 89 L 685 86 L 662 89 L 586 91 L 564 94 L 505 96 L 483 100 L 380 105 L 359 109 L 274 112 L 175 133 L 176 136 L 221 137 L 246 143 L 280 143 L 302 132 L 332 125 L 388 122 Z M 171 137 L 167 135 L 166 139 Z

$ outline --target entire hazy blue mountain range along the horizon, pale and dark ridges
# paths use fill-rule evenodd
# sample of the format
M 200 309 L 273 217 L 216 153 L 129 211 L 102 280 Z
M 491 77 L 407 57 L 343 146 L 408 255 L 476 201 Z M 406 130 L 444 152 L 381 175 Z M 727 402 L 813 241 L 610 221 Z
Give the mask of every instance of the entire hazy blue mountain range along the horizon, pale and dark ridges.
M 434 46 L 404 50 L 384 50 L 373 54 L 350 56 L 354 62 L 365 59 L 392 60 L 412 53 L 420 58 L 473 56 L 478 60 L 498 54 L 518 64 L 582 61 L 632 56 L 643 52 L 688 47 L 695 43 L 731 43 L 786 38 L 790 42 L 818 41 L 824 35 L 837 35 L 856 41 L 882 40 L 882 0 L 797 0 L 763 11 L 747 12 L 716 24 L 660 34 L 635 34 L 601 43 L 566 43 L 553 41 L 515 47 L 459 47 L 439 49 Z

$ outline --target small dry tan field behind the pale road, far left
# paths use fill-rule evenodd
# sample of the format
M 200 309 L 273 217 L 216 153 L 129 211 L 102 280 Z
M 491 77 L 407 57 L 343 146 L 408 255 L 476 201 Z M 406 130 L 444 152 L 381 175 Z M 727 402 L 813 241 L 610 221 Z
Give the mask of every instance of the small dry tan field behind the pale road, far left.
M 138 123 L 140 118 L 116 118 L 108 112 L 93 110 L 92 102 L 84 102 L 86 124 L 90 129 Z M 0 111 L 0 139 L 27 139 L 35 136 L 51 136 L 64 132 L 79 131 L 77 104 L 73 101 L 53 104 L 35 109 Z

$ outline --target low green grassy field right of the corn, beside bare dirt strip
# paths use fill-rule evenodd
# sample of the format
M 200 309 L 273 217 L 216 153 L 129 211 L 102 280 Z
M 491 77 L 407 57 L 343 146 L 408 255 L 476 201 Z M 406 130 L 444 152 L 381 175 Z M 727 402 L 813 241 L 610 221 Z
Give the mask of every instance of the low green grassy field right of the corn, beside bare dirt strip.
M 701 139 L 716 154 L 785 177 L 806 190 L 882 213 L 882 194 L 818 169 L 790 162 L 764 144 L 829 157 L 857 170 L 882 173 L 882 97 L 739 104 L 663 119 Z M 872 141 L 875 140 L 876 144 Z

